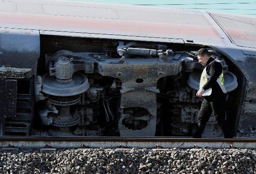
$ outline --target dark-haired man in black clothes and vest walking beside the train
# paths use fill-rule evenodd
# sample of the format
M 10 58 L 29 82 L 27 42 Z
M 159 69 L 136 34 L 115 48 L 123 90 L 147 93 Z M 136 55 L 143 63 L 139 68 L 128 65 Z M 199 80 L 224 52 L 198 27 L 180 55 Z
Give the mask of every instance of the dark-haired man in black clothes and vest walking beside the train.
M 201 74 L 200 89 L 197 97 L 204 97 L 198 113 L 198 125 L 193 138 L 201 138 L 204 128 L 212 112 L 217 123 L 221 126 L 224 138 L 233 138 L 226 120 L 225 101 L 227 98 L 224 87 L 224 75 L 220 61 L 214 60 L 206 48 L 197 51 L 198 62 L 205 66 Z

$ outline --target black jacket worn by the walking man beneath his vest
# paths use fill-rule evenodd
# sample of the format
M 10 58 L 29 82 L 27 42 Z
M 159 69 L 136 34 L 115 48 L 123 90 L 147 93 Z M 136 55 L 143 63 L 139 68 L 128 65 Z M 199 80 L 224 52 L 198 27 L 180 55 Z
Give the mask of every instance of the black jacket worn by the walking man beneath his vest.
M 207 80 L 207 83 L 203 86 L 204 90 L 212 88 L 212 94 L 204 97 L 205 100 L 209 102 L 216 100 L 225 100 L 227 97 L 227 94 L 225 94 L 221 90 L 221 87 L 217 83 L 217 79 L 222 73 L 222 65 L 221 63 L 218 63 L 216 61 L 211 63 L 212 61 L 214 60 L 211 57 L 206 63 L 206 73 L 210 76 L 210 78 Z M 211 64 L 209 65 L 209 63 Z

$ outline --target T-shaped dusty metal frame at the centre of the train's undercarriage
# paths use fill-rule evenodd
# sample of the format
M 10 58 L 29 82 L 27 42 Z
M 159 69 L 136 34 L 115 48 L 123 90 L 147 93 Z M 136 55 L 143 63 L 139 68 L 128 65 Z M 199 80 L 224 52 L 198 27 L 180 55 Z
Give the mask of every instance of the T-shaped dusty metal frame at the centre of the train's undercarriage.
M 119 120 L 118 128 L 122 137 L 154 137 L 157 119 L 157 80 L 161 77 L 175 75 L 179 68 L 170 63 L 159 62 L 159 59 L 126 60 L 123 64 L 111 63 L 114 60 L 99 62 L 99 73 L 103 76 L 117 77 L 122 80 L 120 108 L 141 107 L 148 110 L 151 120 L 142 130 L 128 130 L 122 125 L 125 115 Z M 136 83 L 143 79 L 142 83 Z

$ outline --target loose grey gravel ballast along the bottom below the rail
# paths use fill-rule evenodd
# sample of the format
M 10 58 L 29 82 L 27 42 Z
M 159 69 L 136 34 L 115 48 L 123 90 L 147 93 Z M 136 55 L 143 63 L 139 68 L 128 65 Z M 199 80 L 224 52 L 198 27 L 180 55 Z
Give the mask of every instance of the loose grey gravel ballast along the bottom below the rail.
M 0 152 L 1 174 L 256 174 L 250 149 L 39 149 Z

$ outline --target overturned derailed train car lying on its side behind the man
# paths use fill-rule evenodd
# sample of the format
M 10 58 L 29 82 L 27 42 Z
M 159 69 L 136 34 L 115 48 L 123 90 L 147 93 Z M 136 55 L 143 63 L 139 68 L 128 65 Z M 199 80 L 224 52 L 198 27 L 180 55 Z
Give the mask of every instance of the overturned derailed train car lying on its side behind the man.
M 0 1 L 0 135 L 191 136 L 200 48 L 221 60 L 233 136 L 256 137 L 256 18 Z M 222 136 L 214 117 L 203 136 Z

